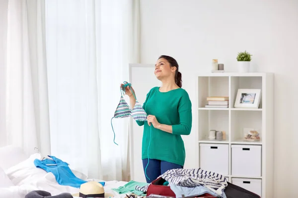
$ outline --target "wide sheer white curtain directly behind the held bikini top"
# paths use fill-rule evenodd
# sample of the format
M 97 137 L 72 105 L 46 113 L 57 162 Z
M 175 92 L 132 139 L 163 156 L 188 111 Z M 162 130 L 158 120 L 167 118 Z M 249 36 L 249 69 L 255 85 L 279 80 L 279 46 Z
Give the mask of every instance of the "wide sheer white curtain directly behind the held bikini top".
M 128 180 L 128 118 L 111 118 L 139 62 L 138 0 L 46 0 L 52 154 L 89 178 Z

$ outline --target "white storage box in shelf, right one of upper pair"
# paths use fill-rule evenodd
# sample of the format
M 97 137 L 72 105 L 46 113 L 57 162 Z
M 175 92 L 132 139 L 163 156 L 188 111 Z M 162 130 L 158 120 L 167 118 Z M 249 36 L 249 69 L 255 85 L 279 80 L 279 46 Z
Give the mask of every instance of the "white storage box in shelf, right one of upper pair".
M 232 175 L 260 177 L 262 176 L 262 146 L 232 145 Z

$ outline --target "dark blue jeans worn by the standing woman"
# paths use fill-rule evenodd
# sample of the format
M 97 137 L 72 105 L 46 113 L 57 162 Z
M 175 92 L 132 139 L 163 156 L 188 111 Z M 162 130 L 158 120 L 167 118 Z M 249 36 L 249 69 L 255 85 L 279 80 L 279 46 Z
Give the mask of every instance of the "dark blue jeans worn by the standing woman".
M 144 168 L 144 173 L 145 173 L 145 168 L 148 164 L 148 159 L 143 159 L 143 168 Z M 171 169 L 176 169 L 176 168 L 183 168 L 183 166 L 174 164 L 171 162 L 167 161 L 161 161 L 157 159 L 149 159 L 149 165 L 146 169 L 147 176 L 149 179 L 146 177 L 147 183 L 151 183 L 153 180 L 155 180 L 157 177 L 162 175 L 168 170 Z

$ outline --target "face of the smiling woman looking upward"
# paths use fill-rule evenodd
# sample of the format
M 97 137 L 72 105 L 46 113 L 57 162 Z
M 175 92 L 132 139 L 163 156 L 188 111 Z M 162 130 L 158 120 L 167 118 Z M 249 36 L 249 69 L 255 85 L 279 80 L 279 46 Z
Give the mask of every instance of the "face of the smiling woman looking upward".
M 158 80 L 161 80 L 171 75 L 175 76 L 175 69 L 176 67 L 171 67 L 166 59 L 159 58 L 155 64 L 154 74 Z

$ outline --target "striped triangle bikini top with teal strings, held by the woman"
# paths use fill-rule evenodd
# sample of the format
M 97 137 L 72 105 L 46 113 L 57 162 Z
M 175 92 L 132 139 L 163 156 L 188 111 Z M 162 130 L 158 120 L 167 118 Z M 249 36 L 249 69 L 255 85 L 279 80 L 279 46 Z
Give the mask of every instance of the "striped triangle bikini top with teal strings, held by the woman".
M 125 94 L 125 88 L 128 86 L 136 99 L 136 104 L 132 110 L 128 105 L 128 103 L 123 98 L 123 95 Z M 143 109 L 143 107 L 141 106 L 141 104 L 139 103 L 138 99 L 136 98 L 136 95 L 131 88 L 131 84 L 125 81 L 124 85 L 120 88 L 120 92 L 121 92 L 120 102 L 115 110 L 114 117 L 112 117 L 111 119 L 112 129 L 113 129 L 113 124 L 112 124 L 113 118 L 133 117 L 136 121 L 147 121 L 148 115 L 146 111 Z M 114 132 L 114 129 L 113 129 L 113 132 Z M 114 132 L 114 143 L 115 143 L 115 132 Z

